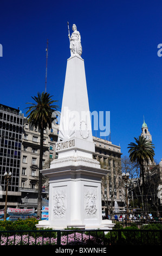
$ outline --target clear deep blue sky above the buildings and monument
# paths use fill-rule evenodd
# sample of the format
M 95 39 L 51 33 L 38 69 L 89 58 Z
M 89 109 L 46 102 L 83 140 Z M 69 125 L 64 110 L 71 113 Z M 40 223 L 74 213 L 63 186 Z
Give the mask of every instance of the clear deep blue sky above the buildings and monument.
M 61 106 L 70 33 L 81 33 L 90 111 L 110 111 L 111 141 L 127 146 L 141 133 L 143 115 L 162 158 L 161 0 L 1 0 L 0 103 L 25 113 L 43 92 L 49 40 L 47 92 Z M 95 135 L 95 133 L 94 133 Z

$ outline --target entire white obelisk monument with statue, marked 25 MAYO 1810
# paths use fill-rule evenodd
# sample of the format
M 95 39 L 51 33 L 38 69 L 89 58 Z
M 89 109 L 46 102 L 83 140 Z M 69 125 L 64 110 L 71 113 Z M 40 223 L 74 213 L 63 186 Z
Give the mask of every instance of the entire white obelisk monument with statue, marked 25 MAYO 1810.
M 81 58 L 80 33 L 73 25 L 70 53 L 62 99 L 58 159 L 50 169 L 42 170 L 49 178 L 49 220 L 38 226 L 55 229 L 101 227 L 101 178 L 107 170 L 93 159 L 92 138 L 85 64 Z

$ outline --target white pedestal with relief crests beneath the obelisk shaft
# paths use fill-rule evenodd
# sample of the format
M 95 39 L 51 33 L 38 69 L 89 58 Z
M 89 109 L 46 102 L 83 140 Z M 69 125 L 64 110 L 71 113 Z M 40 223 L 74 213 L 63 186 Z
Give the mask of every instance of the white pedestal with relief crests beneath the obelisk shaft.
M 62 159 L 62 164 L 56 160 L 56 168 L 41 171 L 49 178 L 49 220 L 40 221 L 37 227 L 99 228 L 102 224 L 101 178 L 107 170 L 95 168 L 98 162 L 92 159 L 80 162 L 68 157 L 66 160 Z M 76 162 L 82 165 L 75 165 Z

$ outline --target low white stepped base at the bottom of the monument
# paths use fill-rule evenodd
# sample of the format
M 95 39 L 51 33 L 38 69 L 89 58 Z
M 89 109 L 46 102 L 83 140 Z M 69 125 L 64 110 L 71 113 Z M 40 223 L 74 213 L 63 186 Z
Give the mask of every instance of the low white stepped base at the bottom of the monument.
M 62 229 L 70 229 L 70 228 L 77 228 L 77 229 L 112 229 L 114 227 L 114 223 L 112 223 L 111 220 L 102 220 L 100 225 L 82 225 L 82 224 L 70 224 L 70 225 L 50 225 L 49 221 L 43 220 L 39 221 L 38 224 L 36 224 L 37 228 L 52 228 L 55 230 L 62 230 Z

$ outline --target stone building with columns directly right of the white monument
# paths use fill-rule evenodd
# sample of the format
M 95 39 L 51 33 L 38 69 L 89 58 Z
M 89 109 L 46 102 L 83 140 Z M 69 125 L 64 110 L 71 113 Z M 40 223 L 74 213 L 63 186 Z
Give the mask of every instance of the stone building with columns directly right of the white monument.
M 111 141 L 93 137 L 95 143 L 94 159 L 97 159 L 101 168 L 110 170 L 102 180 L 102 211 L 106 216 L 109 209 L 119 213 L 125 210 L 124 189 L 121 176 L 121 148 L 112 144 Z

